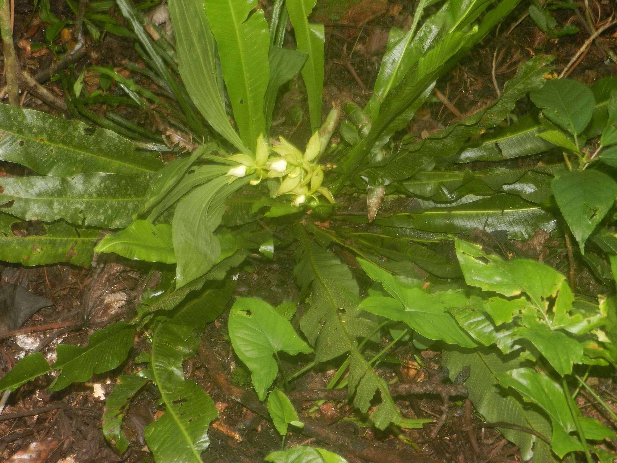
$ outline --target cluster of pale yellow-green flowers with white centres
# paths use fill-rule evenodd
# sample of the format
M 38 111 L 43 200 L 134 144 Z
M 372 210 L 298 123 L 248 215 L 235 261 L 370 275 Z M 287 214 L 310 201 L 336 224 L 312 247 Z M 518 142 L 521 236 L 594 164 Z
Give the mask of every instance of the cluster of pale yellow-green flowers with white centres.
M 230 177 L 230 183 L 236 178 L 255 173 L 257 178 L 251 180 L 251 185 L 257 185 L 263 178 L 280 178 L 281 183 L 275 196 L 292 195 L 294 198 L 292 206 L 304 204 L 308 198 L 315 198 L 317 193 L 334 202 L 328 189 L 321 186 L 323 170 L 317 164 L 321 151 L 319 132 L 315 132 L 310 138 L 304 153 L 282 136 L 279 138 L 281 144 L 268 148 L 268 144 L 260 135 L 257 139 L 255 159 L 246 154 L 230 156 L 228 159 L 238 162 L 238 165 L 232 167 L 226 174 Z M 278 156 L 270 156 L 270 150 Z

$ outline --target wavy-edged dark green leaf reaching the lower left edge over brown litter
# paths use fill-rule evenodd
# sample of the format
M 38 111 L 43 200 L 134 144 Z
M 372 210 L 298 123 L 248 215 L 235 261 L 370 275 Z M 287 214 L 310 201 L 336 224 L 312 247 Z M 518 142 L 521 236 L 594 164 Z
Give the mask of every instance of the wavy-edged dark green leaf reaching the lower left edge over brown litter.
M 51 366 L 41 352 L 23 357 L 0 380 L 0 391 L 14 391 L 22 384 L 53 370 L 60 370 L 60 373 L 49 387 L 51 391 L 59 391 L 71 383 L 84 382 L 93 373 L 112 370 L 126 359 L 128 349 L 133 346 L 134 332 L 133 325 L 118 322 L 94 332 L 85 348 L 58 344 L 58 359 Z

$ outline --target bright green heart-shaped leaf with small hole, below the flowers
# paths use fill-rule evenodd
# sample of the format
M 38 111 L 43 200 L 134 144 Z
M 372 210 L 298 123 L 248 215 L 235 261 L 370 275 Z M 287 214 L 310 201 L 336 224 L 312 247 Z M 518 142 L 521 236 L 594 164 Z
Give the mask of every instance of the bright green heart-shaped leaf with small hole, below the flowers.
M 266 398 L 267 389 L 276 378 L 273 356 L 278 356 L 279 351 L 291 355 L 313 351 L 288 320 L 259 299 L 238 299 L 231 307 L 228 328 L 234 352 L 251 370 L 259 400 Z

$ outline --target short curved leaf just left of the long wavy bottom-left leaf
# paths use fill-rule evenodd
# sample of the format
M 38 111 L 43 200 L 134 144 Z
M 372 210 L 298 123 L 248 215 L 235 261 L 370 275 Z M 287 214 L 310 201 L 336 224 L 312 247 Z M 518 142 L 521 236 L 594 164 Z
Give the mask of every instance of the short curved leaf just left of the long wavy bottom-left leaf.
M 103 435 L 120 453 L 128 448 L 130 442 L 122 432 L 122 417 L 125 407 L 128 406 L 130 399 L 139 391 L 147 378 L 133 375 L 121 375 L 114 386 L 114 390 L 105 403 L 103 412 Z

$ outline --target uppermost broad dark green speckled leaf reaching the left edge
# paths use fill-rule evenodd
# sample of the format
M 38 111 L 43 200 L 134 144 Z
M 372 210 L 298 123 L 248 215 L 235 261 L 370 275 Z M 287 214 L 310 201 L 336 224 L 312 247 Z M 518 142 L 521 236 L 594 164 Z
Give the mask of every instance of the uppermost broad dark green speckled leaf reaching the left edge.
M 25 165 L 40 175 L 132 175 L 162 167 L 155 157 L 135 154 L 135 145 L 113 131 L 91 129 L 77 120 L 2 104 L 0 121 L 0 160 Z

